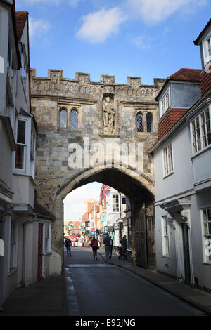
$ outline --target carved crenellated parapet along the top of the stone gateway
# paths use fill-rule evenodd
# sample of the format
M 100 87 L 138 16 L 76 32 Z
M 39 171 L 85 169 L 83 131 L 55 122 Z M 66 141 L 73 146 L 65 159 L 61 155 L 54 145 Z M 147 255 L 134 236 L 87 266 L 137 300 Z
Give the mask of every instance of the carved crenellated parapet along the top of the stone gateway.
M 84 96 L 113 93 L 127 100 L 153 102 L 165 79 L 154 79 L 153 85 L 141 84 L 141 77 L 127 77 L 127 84 L 116 84 L 115 76 L 101 75 L 100 81 L 90 81 L 90 74 L 76 72 L 75 79 L 63 77 L 63 70 L 48 70 L 47 77 L 37 77 L 36 70 L 31 69 L 32 95 Z

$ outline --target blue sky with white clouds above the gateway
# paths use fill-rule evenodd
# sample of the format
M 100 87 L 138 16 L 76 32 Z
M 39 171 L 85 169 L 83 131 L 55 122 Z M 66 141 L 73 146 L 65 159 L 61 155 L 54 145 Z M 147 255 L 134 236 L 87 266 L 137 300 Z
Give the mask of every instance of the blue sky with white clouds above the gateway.
M 210 20 L 210 0 L 16 0 L 30 13 L 30 64 L 48 69 L 141 76 L 142 84 L 181 67 L 200 68 L 193 40 Z

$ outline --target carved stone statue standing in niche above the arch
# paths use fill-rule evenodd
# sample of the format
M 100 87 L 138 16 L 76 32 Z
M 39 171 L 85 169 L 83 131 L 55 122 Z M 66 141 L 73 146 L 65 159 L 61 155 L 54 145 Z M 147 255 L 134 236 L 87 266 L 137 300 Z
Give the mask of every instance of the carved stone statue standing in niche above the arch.
M 113 98 L 106 96 L 103 99 L 103 126 L 105 133 L 113 133 L 115 130 L 115 114 Z

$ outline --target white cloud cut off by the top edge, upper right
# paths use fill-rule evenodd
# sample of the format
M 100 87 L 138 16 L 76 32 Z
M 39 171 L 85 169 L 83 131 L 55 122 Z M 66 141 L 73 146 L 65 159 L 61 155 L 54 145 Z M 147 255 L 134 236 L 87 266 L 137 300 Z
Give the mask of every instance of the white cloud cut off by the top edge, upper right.
M 127 0 L 130 13 L 143 21 L 156 24 L 177 11 L 192 13 L 207 0 Z

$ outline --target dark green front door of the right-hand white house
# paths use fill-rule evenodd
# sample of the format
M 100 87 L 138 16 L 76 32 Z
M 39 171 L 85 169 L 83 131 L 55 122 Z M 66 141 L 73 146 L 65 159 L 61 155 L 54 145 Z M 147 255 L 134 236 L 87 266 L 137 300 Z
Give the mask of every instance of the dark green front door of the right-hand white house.
M 186 284 L 191 284 L 191 266 L 190 266 L 190 251 L 189 251 L 189 236 L 186 223 L 181 224 L 183 252 L 184 252 L 184 272 Z

